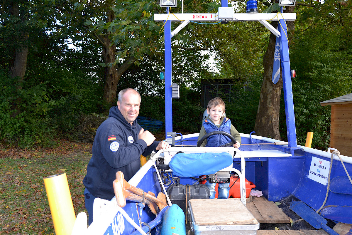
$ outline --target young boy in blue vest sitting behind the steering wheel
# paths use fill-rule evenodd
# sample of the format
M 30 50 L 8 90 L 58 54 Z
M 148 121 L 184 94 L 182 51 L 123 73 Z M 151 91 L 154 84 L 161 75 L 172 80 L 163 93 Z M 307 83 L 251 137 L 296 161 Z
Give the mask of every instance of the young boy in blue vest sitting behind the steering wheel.
M 212 131 L 225 131 L 231 134 L 236 143 L 233 144 L 234 148 L 239 148 L 241 144 L 241 137 L 236 128 L 231 124 L 231 120 L 224 118 L 225 113 L 225 103 L 220 97 L 216 97 L 209 101 L 207 106 L 208 116 L 204 120 L 202 128 L 199 132 L 198 141 L 206 134 Z M 222 146 L 224 144 L 230 143 L 231 139 L 225 135 L 212 135 L 209 136 L 207 140 L 204 140 L 201 147 L 215 147 Z M 210 181 L 210 182 L 209 182 Z M 205 184 L 210 190 L 210 199 L 215 198 L 215 185 L 219 184 L 218 187 L 218 199 L 228 198 L 230 192 L 230 179 L 225 181 L 214 180 L 214 178 L 209 179 Z M 228 182 L 227 182 L 228 181 Z

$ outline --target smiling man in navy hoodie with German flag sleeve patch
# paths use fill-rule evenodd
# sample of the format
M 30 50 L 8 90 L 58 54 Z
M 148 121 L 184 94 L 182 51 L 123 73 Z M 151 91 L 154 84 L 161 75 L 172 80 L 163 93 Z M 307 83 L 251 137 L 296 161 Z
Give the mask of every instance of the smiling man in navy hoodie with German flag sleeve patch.
M 119 92 L 117 106 L 110 108 L 108 119 L 96 130 L 92 158 L 83 179 L 88 224 L 93 222 L 94 199 L 111 200 L 115 196 L 112 183 L 116 172 L 122 171 L 128 181 L 140 168 L 140 155 L 170 148 L 165 141 L 155 141 L 153 134 L 138 125 L 136 118 L 141 100 L 136 90 L 123 89 Z

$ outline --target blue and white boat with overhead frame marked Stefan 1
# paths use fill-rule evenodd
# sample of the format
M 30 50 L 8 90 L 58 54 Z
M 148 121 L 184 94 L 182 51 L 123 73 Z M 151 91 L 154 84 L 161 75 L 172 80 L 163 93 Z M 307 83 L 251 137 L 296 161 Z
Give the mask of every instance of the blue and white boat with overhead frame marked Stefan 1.
M 114 181 L 115 197 L 111 201 L 95 199 L 93 223 L 87 228 L 86 214 L 79 213 L 72 234 L 256 235 L 261 225 L 248 210 L 250 202 L 246 197 L 247 181 L 253 183 L 254 188 L 261 191 L 266 200 L 289 205 L 287 210 L 304 219 L 311 225 L 310 229 L 323 229 L 328 234 L 335 235 L 337 233 L 326 225 L 327 221 L 352 224 L 352 181 L 349 176 L 352 173 L 352 159 L 339 154 L 337 149 L 322 151 L 300 146 L 296 141 L 288 40 L 285 37 L 285 20 L 295 20 L 296 14 L 233 13 L 233 8 L 227 6 L 227 1 L 216 14 L 169 14 L 169 8 L 167 9 L 166 14 L 155 14 L 155 20 L 166 20 L 165 136 L 166 141 L 176 147 L 152 154 L 128 182 L 118 172 L 117 180 Z M 171 32 L 171 21 L 180 20 L 183 21 L 182 24 Z M 278 20 L 281 27 L 274 29 L 266 20 Z M 242 144 L 239 149 L 194 147 L 199 133 L 180 135 L 172 131 L 174 86 L 171 84 L 171 37 L 191 21 L 259 21 L 275 33 L 281 45 L 288 142 L 256 136 L 251 132 L 240 134 Z M 239 182 L 239 188 L 236 189 L 239 198 L 207 199 L 208 194 L 202 198 L 202 179 L 190 174 L 182 175 L 182 172 L 170 166 L 170 162 L 176 159 L 175 155 L 204 154 L 230 155 L 231 163 L 216 171 L 229 172 L 231 177 L 236 178 Z M 196 175 L 213 174 L 202 171 L 204 166 L 198 164 L 197 160 L 192 159 L 190 162 Z M 186 194 L 182 191 L 181 199 L 178 199 L 177 192 L 177 195 L 170 195 L 175 187 L 174 191 L 187 190 L 187 187 L 189 191 Z M 178 190 L 178 187 L 181 189 Z M 187 196 L 193 198 L 187 200 Z M 181 209 L 184 207 L 183 213 L 177 214 L 178 209 L 169 212 L 176 207 L 175 204 L 179 204 Z M 220 224 L 223 219 L 221 214 L 228 218 L 225 224 Z M 220 220 L 218 217 L 221 217 Z M 163 226 L 169 230 L 163 232 Z M 183 227 L 188 227 L 187 231 Z

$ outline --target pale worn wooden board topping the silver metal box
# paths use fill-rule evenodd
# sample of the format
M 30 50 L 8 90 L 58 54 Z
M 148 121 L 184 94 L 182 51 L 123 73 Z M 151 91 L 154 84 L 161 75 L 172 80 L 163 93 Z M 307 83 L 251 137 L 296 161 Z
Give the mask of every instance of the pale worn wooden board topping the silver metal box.
M 258 224 L 239 198 L 190 199 L 189 202 L 196 225 Z

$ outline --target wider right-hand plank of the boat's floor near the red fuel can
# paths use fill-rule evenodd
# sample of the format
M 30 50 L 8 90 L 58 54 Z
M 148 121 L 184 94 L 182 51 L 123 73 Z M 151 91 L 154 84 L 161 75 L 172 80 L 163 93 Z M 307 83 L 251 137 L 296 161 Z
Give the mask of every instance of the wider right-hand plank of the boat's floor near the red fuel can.
M 263 223 L 290 223 L 290 218 L 274 202 L 264 197 L 253 197 L 253 203 L 263 217 Z

